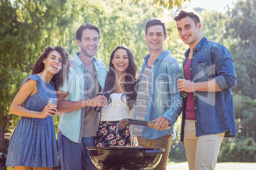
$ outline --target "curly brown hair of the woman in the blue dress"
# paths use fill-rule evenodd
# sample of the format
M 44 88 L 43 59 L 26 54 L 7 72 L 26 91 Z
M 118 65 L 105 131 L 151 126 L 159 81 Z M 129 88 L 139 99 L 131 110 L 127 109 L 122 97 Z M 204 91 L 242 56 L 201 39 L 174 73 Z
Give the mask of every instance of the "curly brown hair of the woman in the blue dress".
M 55 86 L 55 89 L 59 89 L 59 87 L 62 86 L 65 81 L 67 81 L 69 74 L 69 54 L 65 48 L 60 46 L 55 46 L 54 48 L 52 46 L 45 46 L 43 53 L 41 53 L 41 55 L 38 57 L 38 60 L 36 60 L 36 63 L 34 63 L 32 74 L 43 72 L 45 69 L 43 59 L 47 58 L 47 56 L 52 53 L 52 51 L 57 51 L 62 57 L 62 69 L 52 77 L 52 82 Z

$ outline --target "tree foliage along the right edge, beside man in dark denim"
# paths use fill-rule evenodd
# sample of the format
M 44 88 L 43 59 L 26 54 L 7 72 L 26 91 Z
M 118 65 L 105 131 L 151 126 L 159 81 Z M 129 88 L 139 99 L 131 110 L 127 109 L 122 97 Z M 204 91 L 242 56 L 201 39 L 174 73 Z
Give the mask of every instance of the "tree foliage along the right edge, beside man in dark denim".
M 230 17 L 225 23 L 225 39 L 230 41 L 234 58 L 237 86 L 232 90 L 235 114 L 238 118 L 238 139 L 251 137 L 256 141 L 256 1 L 238 1 L 227 11 Z M 239 29 L 238 29 L 239 28 Z

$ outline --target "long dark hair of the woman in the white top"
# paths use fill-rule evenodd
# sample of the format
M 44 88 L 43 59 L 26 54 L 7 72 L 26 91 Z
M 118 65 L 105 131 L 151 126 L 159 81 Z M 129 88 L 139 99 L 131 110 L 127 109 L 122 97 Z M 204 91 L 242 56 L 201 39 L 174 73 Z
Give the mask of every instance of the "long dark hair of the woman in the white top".
M 135 88 L 136 82 L 137 82 L 137 78 L 136 78 L 137 67 L 134 62 L 134 57 L 132 55 L 132 51 L 129 48 L 127 48 L 127 46 L 118 46 L 117 48 L 115 48 L 112 51 L 111 56 L 110 56 L 110 64 L 108 65 L 109 72 L 106 75 L 106 81 L 105 81 L 105 87 L 104 87 L 103 94 L 105 94 L 105 96 L 108 98 L 108 103 L 111 103 L 110 95 L 115 92 L 115 87 L 117 86 L 116 76 L 115 76 L 115 74 L 116 74 L 115 67 L 112 63 L 112 60 L 115 55 L 115 51 L 117 51 L 117 49 L 125 49 L 127 51 L 127 55 L 129 58 L 129 66 L 128 66 L 128 68 L 126 70 L 126 74 L 125 74 L 124 88 L 125 88 L 125 94 L 126 94 L 126 99 L 127 99 L 127 106 L 129 107 L 129 110 L 131 110 L 132 106 L 134 105 L 134 103 L 136 101 L 136 96 L 137 96 L 137 91 Z M 122 95 L 122 98 L 124 95 Z

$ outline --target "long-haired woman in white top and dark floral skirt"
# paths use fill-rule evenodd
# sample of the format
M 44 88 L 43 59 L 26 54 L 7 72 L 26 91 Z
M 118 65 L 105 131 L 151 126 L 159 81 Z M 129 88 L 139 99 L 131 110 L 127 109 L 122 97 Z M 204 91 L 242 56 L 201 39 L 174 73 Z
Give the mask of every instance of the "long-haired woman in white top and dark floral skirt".
M 130 126 L 118 129 L 123 118 L 133 117 L 132 110 L 136 101 L 136 73 L 132 52 L 126 46 L 118 46 L 111 53 L 109 72 L 106 75 L 103 94 L 108 104 L 101 109 L 101 119 L 96 136 L 97 147 L 110 145 L 131 145 Z

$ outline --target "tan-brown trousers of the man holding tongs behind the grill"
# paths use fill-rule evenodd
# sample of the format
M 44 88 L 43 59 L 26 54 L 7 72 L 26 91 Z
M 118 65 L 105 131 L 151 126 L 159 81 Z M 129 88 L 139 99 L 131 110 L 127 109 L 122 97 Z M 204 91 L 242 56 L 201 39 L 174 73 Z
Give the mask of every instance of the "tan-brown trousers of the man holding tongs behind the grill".
M 141 139 L 141 136 L 138 136 L 137 140 L 138 140 L 138 145 L 141 147 L 166 149 L 162 154 L 162 158 L 159 164 L 154 168 L 155 170 L 166 169 L 173 136 L 171 136 L 171 134 L 167 134 L 166 136 L 162 136 L 161 138 L 157 138 L 154 140 L 144 140 L 144 139 Z

